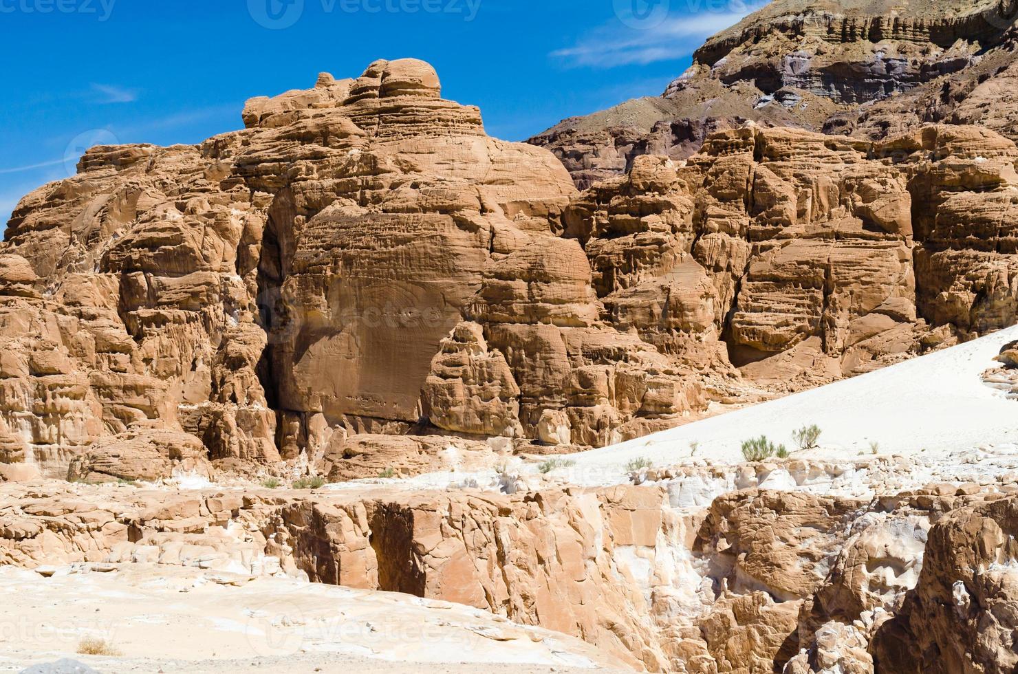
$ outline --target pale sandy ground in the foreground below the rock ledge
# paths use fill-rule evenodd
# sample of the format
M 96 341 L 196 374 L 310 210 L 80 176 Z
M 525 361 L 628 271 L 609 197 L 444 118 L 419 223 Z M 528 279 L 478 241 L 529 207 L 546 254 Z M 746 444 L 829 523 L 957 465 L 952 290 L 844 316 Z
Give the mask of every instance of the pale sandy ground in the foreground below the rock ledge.
M 578 639 L 445 602 L 166 566 L 67 571 L 0 568 L 0 672 L 62 658 L 104 674 L 627 671 Z M 77 655 L 86 637 L 119 656 Z

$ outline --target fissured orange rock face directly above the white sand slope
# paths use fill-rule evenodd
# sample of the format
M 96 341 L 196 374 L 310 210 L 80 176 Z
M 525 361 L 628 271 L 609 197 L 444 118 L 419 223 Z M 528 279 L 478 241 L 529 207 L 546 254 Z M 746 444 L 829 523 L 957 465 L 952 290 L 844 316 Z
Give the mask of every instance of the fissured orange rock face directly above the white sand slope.
M 1016 159 L 975 127 L 870 144 L 750 126 L 686 162 L 636 159 L 573 200 L 566 235 L 612 324 L 713 370 L 716 398 L 729 360 L 801 388 L 1015 322 L 994 223 L 1012 220 Z

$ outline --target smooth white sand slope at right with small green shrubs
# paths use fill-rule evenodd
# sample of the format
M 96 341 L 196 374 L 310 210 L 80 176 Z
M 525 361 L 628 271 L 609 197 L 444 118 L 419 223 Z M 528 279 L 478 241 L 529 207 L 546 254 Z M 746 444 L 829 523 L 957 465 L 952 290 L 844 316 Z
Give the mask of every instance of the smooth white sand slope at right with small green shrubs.
M 792 432 L 815 424 L 821 449 L 810 456 L 871 453 L 948 453 L 1018 443 L 1018 402 L 986 386 L 1001 347 L 1018 339 L 1018 327 L 867 375 L 746 407 L 702 422 L 568 458 L 575 465 L 556 474 L 581 485 L 625 480 L 626 463 L 646 458 L 657 466 L 695 458 L 743 461 L 744 440 L 766 435 L 789 450 Z

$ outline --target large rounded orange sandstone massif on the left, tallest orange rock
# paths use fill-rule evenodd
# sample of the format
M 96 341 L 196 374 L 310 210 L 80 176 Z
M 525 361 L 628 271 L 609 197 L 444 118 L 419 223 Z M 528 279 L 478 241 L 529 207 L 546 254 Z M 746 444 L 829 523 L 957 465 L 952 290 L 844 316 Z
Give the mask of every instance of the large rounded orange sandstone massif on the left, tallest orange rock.
M 604 445 L 705 405 L 603 321 L 559 236 L 561 164 L 490 138 L 427 63 L 324 74 L 243 119 L 194 147 L 95 148 L 18 205 L 4 461 L 65 476 L 97 440 L 167 430 L 225 466 L 314 462 L 338 429 L 538 439 L 546 412 L 561 442 Z

